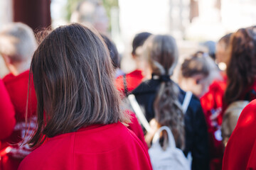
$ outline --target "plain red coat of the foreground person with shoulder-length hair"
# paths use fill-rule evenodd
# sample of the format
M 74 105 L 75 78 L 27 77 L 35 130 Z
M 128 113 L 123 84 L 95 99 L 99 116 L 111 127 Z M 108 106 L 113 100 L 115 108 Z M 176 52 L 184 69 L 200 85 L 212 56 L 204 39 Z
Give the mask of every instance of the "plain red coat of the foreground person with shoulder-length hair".
M 19 170 L 149 170 L 149 154 L 122 123 L 91 125 L 50 138 L 29 154 Z

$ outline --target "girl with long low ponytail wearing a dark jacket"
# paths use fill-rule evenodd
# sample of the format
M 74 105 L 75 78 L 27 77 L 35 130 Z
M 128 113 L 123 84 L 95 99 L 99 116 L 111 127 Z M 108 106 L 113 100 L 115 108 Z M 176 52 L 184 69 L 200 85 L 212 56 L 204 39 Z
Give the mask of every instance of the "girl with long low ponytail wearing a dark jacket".
M 181 103 L 186 92 L 170 79 L 178 62 L 176 40 L 170 35 L 151 35 L 144 44 L 145 72 L 151 79 L 132 91 L 146 119 L 157 128 L 168 126 L 176 147 L 193 157 L 192 169 L 209 169 L 208 133 L 200 101 L 192 96 L 186 113 Z M 156 128 L 156 129 L 157 129 Z M 154 134 L 153 134 L 154 135 Z M 146 140 L 153 136 L 146 135 Z M 165 140 L 163 145 L 165 145 Z

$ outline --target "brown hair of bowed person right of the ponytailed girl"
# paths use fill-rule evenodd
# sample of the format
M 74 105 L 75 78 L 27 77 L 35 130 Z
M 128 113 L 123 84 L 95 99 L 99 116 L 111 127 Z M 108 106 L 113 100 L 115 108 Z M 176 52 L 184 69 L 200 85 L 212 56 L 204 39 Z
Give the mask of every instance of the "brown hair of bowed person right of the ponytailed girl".
M 204 77 L 208 77 L 210 74 L 210 67 L 208 67 L 208 61 L 204 52 L 198 51 L 190 58 L 184 60 L 181 64 L 181 74 L 183 77 L 193 77 L 196 74 L 203 74 Z

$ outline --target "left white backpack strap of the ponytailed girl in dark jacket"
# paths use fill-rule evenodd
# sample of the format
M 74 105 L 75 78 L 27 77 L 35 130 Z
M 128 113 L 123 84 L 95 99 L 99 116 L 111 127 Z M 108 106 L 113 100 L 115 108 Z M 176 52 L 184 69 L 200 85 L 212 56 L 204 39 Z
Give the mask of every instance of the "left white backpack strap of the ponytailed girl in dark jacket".
M 130 94 L 128 96 L 128 99 L 132 105 L 132 108 L 133 108 L 135 114 L 139 118 L 139 121 L 142 123 L 142 125 L 144 126 L 144 128 L 146 129 L 147 132 L 151 132 L 152 130 L 149 125 L 149 122 L 146 120 L 145 115 L 142 113 L 142 109 L 139 107 L 139 103 L 137 102 L 135 96 L 133 94 Z

